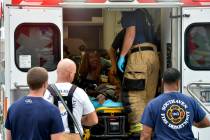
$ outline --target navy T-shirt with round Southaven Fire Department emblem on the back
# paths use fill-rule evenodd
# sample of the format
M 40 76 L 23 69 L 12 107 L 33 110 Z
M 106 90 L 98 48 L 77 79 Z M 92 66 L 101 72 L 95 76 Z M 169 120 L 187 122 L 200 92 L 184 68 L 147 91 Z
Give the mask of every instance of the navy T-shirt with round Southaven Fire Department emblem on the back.
M 182 93 L 165 93 L 149 102 L 141 123 L 154 130 L 154 140 L 194 140 L 193 122 L 206 113 L 191 97 Z

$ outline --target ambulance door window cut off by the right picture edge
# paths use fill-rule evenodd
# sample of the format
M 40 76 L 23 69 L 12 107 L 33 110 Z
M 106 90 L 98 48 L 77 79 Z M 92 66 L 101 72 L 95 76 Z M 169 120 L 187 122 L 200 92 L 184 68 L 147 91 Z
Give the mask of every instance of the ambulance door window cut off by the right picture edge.
M 185 63 L 192 70 L 210 69 L 210 24 L 191 24 L 185 31 Z

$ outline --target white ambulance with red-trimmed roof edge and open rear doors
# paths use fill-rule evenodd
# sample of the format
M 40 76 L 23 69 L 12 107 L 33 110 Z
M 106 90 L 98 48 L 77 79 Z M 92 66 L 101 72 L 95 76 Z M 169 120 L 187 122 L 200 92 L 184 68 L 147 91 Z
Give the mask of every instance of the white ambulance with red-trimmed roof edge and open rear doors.
M 210 0 L 3 1 L 4 115 L 10 104 L 27 94 L 28 69 L 46 68 L 49 83 L 54 83 L 59 60 L 68 53 L 77 58 L 80 46 L 109 49 L 122 29 L 121 11 L 137 8 L 147 9 L 153 18 L 160 41 L 160 76 L 168 67 L 179 69 L 181 92 L 192 96 L 209 116 Z M 210 128 L 193 131 L 197 140 L 210 137 Z

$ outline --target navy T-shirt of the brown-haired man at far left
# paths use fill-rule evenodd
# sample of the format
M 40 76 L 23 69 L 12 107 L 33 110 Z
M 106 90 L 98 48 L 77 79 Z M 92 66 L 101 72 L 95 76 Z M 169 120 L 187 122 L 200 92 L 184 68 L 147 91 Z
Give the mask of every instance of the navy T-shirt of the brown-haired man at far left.
M 50 140 L 64 131 L 59 110 L 42 97 L 24 96 L 8 110 L 5 127 L 12 140 Z

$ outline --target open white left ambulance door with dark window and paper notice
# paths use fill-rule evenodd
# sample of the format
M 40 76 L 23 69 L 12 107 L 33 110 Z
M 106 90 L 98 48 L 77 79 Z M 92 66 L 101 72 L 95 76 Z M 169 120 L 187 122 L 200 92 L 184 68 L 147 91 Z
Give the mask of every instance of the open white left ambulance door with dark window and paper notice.
M 62 8 L 7 6 L 6 12 L 6 91 L 14 101 L 28 88 L 26 76 L 32 67 L 46 68 L 48 82 L 55 82 L 63 55 Z

